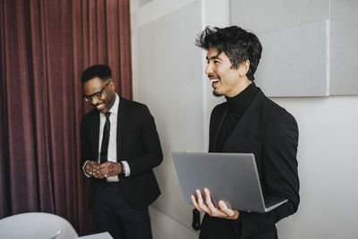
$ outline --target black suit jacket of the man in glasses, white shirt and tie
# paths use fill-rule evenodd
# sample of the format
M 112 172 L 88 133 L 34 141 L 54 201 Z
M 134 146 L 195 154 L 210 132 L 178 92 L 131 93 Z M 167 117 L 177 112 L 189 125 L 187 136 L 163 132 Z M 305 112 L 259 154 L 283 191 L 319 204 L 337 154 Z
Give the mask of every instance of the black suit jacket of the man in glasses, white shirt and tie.
M 97 160 L 99 112 L 94 109 L 81 121 L 81 167 L 87 160 Z M 134 209 L 144 209 L 155 201 L 160 190 L 152 168 L 163 160 L 154 118 L 145 105 L 120 97 L 117 121 L 117 160 L 131 168 L 129 177 L 120 178 L 124 196 Z M 91 178 L 92 194 L 106 179 Z

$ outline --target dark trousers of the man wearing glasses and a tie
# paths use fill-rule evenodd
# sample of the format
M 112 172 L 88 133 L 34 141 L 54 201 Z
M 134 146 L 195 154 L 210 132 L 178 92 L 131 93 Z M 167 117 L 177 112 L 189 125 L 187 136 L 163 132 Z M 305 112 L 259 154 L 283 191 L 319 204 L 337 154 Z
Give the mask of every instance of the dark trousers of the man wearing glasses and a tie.
M 148 208 L 132 209 L 118 184 L 98 187 L 92 215 L 98 232 L 115 239 L 152 239 Z

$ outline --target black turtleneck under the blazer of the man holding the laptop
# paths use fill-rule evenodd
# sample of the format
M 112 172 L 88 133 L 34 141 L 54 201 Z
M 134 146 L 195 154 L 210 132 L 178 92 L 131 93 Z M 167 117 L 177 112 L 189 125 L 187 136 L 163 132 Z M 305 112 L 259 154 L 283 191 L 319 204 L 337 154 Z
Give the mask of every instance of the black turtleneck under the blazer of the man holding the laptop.
M 241 91 L 233 98 L 226 97 L 227 100 L 227 114 L 219 129 L 220 132 L 217 137 L 217 149 L 222 151 L 227 138 L 233 132 L 234 127 L 239 122 L 246 108 L 249 107 L 252 99 L 256 96 L 259 88 L 252 82 L 248 87 Z

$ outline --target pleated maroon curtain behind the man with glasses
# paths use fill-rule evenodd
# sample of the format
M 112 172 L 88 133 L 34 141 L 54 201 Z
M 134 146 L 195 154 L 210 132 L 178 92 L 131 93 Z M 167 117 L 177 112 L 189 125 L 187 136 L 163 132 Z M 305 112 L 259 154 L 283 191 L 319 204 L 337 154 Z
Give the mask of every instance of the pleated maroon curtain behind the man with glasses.
M 0 1 L 0 218 L 55 213 L 91 233 L 81 72 L 109 64 L 132 98 L 129 0 Z

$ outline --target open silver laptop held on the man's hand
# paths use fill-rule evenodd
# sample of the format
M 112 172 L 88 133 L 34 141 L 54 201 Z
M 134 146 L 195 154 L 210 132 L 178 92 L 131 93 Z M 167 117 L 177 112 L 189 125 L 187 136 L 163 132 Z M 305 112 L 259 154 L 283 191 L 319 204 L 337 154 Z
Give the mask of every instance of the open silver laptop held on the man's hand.
M 172 156 L 188 204 L 195 190 L 204 195 L 204 188 L 216 207 L 218 201 L 226 201 L 231 209 L 264 213 L 287 201 L 265 201 L 253 154 L 173 152 Z

